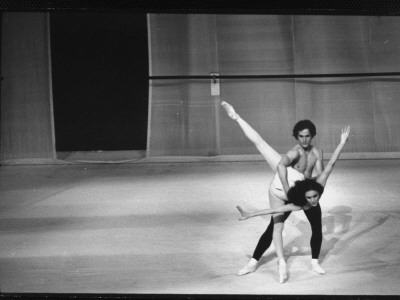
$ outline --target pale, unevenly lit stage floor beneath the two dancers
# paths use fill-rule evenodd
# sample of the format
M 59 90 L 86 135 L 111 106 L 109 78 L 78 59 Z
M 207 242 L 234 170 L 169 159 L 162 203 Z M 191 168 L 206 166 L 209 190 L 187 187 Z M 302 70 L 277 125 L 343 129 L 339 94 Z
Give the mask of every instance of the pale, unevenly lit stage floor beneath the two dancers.
M 265 162 L 0 167 L 3 293 L 400 295 L 400 160 L 340 160 L 321 200 L 326 275 L 310 270 L 302 211 L 236 276 L 268 217 Z

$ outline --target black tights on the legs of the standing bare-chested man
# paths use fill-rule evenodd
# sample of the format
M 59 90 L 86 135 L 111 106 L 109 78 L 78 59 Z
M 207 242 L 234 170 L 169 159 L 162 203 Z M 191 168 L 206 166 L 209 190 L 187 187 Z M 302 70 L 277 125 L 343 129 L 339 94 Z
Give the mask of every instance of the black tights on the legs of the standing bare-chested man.
M 319 257 L 319 253 L 321 251 L 322 244 L 322 214 L 321 214 L 321 206 L 318 204 L 315 207 L 312 207 L 308 210 L 303 210 L 307 216 L 308 221 L 311 225 L 311 256 L 312 258 L 317 259 Z M 289 217 L 291 212 L 286 212 L 283 217 L 283 222 Z M 261 256 L 263 256 L 264 252 L 267 251 L 272 242 L 272 234 L 274 232 L 274 218 L 271 216 L 271 222 L 269 223 L 267 230 L 263 233 L 260 240 L 258 241 L 256 250 L 254 251 L 253 258 L 256 260 L 260 260 Z

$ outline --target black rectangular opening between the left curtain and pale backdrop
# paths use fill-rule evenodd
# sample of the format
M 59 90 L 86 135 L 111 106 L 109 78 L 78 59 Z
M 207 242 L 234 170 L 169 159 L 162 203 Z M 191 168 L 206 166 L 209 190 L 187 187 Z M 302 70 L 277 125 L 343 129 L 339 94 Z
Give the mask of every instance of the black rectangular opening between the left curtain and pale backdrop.
M 146 149 L 146 14 L 52 13 L 57 151 Z

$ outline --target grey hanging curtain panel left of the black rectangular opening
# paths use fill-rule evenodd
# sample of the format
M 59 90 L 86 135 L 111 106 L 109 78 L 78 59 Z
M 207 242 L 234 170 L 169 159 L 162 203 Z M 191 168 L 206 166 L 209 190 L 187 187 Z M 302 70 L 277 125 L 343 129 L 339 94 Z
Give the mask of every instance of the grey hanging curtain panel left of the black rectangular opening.
M 55 159 L 48 15 L 3 13 L 1 160 Z

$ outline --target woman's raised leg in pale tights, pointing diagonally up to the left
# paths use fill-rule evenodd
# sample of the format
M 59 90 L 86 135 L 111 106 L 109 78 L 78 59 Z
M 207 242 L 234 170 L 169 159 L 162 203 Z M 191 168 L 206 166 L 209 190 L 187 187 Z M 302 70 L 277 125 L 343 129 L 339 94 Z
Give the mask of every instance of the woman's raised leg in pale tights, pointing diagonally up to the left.
M 266 141 L 255 131 L 245 120 L 243 120 L 233 109 L 232 105 L 222 101 L 222 107 L 227 112 L 228 116 L 237 121 L 239 126 L 242 128 L 244 134 L 248 137 L 250 141 L 254 143 L 258 151 L 264 156 L 265 160 L 271 167 L 273 171 L 276 171 L 278 163 L 280 162 L 282 156 L 276 152 Z

